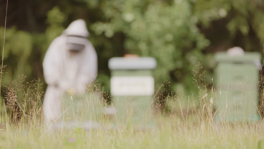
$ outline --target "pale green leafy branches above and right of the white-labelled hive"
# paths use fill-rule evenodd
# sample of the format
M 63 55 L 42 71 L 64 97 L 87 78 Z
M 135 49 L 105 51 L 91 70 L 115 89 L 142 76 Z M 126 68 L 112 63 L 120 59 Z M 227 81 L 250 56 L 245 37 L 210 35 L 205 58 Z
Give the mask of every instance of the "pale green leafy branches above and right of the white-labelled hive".
M 126 51 L 155 57 L 158 84 L 171 79 L 171 75 L 180 79 L 179 71 L 191 74 L 191 65 L 198 59 L 186 61 L 186 56 L 202 56 L 200 51 L 209 45 L 192 18 L 187 1 L 175 1 L 171 5 L 160 1 L 106 1 L 103 6 L 109 21 L 93 24 L 95 34 L 104 33 L 111 38 L 122 32 L 125 34 L 123 46 Z

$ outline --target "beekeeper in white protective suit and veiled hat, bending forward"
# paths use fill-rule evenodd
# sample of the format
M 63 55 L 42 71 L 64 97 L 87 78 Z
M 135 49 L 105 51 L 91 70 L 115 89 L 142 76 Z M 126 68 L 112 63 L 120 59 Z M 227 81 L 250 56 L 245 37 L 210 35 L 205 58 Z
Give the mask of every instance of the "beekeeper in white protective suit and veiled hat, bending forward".
M 44 61 L 46 89 L 43 113 L 49 128 L 61 117 L 61 98 L 67 90 L 84 93 L 86 85 L 97 75 L 97 54 L 87 39 L 89 32 L 84 20 L 73 21 L 63 34 L 55 38 Z

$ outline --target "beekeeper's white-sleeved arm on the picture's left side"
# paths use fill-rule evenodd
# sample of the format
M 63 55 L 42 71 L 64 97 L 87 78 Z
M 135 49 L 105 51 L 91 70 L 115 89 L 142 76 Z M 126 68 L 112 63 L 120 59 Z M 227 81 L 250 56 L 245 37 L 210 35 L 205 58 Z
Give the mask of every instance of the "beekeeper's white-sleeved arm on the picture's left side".
M 57 37 L 52 41 L 43 60 L 44 79 L 48 85 L 59 86 L 62 69 L 60 68 L 62 62 L 62 56 L 59 52 L 60 48 L 61 39 Z

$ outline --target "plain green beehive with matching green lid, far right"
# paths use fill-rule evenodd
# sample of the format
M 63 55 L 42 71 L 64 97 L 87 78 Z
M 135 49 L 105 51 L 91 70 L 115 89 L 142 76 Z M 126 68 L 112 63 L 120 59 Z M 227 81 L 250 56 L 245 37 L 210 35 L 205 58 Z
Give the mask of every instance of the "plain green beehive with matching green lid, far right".
M 259 120 L 258 79 L 261 55 L 245 52 L 241 56 L 230 56 L 226 52 L 215 54 L 214 86 L 217 91 L 216 120 Z

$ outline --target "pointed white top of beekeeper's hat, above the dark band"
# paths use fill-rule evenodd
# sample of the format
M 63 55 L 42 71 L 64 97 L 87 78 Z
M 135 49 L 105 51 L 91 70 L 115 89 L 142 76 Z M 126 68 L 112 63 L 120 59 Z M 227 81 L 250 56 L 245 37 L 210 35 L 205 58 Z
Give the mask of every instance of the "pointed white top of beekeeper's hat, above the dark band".
M 63 34 L 72 35 L 72 36 L 80 36 L 84 38 L 88 38 L 89 32 L 86 27 L 86 23 L 82 19 L 78 19 L 73 21 L 67 29 L 64 30 Z

